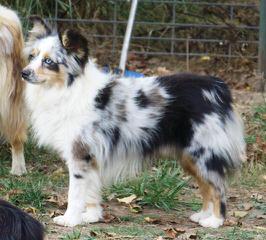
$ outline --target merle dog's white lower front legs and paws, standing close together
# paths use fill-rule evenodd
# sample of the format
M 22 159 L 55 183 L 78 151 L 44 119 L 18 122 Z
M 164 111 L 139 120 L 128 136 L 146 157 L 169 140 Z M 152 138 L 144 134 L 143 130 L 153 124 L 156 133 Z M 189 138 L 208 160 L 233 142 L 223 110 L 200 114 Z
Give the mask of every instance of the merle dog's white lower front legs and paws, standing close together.
M 101 181 L 93 161 L 68 162 L 68 207 L 65 215 L 54 218 L 56 224 L 73 227 L 81 223 L 97 222 L 102 217 Z

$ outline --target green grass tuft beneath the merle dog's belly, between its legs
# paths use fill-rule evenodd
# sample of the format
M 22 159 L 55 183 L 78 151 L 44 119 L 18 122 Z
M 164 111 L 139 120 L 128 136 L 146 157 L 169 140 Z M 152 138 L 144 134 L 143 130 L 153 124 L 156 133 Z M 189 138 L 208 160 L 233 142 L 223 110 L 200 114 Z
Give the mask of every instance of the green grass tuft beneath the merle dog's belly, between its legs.
M 118 183 L 107 190 L 122 198 L 135 194 L 139 204 L 165 210 L 173 209 L 178 202 L 178 194 L 187 185 L 182 179 L 182 171 L 175 162 L 164 161 L 152 171 L 144 172 L 139 178 Z

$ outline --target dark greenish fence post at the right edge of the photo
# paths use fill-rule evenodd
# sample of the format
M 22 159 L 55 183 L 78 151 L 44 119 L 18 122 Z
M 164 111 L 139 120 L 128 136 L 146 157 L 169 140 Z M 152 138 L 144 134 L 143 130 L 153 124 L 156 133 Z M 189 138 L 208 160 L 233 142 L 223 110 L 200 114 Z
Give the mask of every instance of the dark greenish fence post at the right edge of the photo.
M 261 90 L 266 78 L 266 0 L 260 0 L 259 71 L 262 77 Z

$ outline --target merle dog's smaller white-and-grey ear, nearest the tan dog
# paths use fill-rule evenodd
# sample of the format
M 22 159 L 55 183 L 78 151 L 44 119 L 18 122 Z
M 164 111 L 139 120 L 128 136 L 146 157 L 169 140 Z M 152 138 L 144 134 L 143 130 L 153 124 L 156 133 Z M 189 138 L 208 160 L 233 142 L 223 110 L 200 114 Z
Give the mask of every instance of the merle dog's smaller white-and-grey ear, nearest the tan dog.
M 29 41 L 35 41 L 51 34 L 51 28 L 39 16 L 30 16 L 29 20 L 33 23 L 33 28 L 29 31 Z

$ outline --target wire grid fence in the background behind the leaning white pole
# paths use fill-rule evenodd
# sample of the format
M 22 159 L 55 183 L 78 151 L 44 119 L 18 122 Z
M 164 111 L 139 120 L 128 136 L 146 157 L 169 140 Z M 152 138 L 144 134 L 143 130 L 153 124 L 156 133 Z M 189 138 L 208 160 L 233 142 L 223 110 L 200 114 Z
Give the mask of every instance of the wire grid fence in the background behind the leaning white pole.
M 103 1 L 99 17 L 60 17 L 57 25 L 79 26 L 93 43 L 94 52 L 106 56 L 122 48 L 130 1 Z M 258 59 L 258 4 L 207 1 L 140 0 L 129 51 L 145 56 Z M 151 12 L 154 14 L 148 14 Z M 147 14 L 145 14 L 145 11 Z M 161 16 L 160 16 L 161 15 Z M 111 55 L 109 55 L 111 53 Z

